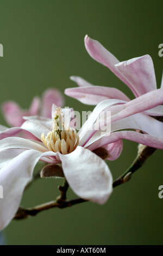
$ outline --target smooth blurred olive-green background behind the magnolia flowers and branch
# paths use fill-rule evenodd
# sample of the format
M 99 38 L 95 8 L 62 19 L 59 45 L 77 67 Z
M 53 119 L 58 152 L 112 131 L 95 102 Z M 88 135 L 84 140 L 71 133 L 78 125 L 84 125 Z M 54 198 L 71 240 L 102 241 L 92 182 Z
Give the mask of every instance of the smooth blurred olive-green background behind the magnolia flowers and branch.
M 122 60 L 150 54 L 158 88 L 163 57 L 161 0 L 0 0 L 0 102 L 15 100 L 28 108 L 34 95 L 49 87 L 74 87 L 78 75 L 102 86 L 130 90 L 107 68 L 91 59 L 84 36 L 100 41 Z M 78 111 L 92 106 L 65 96 L 65 106 Z M 0 116 L 1 124 L 6 125 Z M 137 144 L 124 141 L 118 160 L 108 162 L 114 179 L 134 160 Z M 37 167 L 37 169 L 39 166 Z M 24 193 L 24 207 L 58 196 L 61 180 L 37 180 Z M 83 203 L 69 209 L 51 209 L 4 230 L 8 245 L 162 245 L 162 151 L 156 150 L 133 178 L 115 188 L 101 206 Z M 68 198 L 76 197 L 71 190 Z M 1 217 L 1 216 L 0 216 Z

